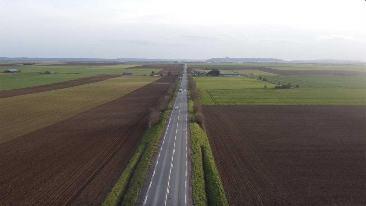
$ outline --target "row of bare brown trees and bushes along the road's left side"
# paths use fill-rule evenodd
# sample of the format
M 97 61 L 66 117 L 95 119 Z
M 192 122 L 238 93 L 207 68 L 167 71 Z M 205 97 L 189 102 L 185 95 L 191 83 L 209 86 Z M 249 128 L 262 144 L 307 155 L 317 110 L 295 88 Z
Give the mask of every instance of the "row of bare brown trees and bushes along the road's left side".
M 169 85 L 165 94 L 160 96 L 160 98 L 157 100 L 156 106 L 149 108 L 149 117 L 147 120 L 147 126 L 149 126 L 149 128 L 151 128 L 152 126 L 156 125 L 156 123 L 158 123 L 158 121 L 160 119 L 160 113 L 167 109 L 169 100 L 174 95 L 174 91 L 176 89 L 176 85 L 178 83 L 179 76 L 177 75 L 174 78 L 175 78 L 174 82 L 172 82 Z

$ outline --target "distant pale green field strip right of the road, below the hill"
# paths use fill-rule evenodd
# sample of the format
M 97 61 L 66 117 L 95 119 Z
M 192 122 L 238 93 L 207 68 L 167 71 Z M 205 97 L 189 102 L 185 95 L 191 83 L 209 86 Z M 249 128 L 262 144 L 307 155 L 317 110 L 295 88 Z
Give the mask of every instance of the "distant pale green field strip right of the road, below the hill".
M 366 71 L 365 65 L 312 65 L 312 64 L 295 64 L 295 63 L 189 63 L 188 67 L 202 69 L 230 69 L 242 67 L 268 67 L 279 70 L 348 70 L 348 71 Z M 261 75 L 261 74 L 258 74 Z

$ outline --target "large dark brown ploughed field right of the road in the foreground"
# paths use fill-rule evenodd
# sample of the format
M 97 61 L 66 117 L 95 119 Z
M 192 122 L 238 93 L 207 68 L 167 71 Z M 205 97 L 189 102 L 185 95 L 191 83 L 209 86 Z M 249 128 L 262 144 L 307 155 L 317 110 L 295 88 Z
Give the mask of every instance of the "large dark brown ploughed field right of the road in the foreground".
M 203 106 L 229 205 L 365 205 L 365 106 Z

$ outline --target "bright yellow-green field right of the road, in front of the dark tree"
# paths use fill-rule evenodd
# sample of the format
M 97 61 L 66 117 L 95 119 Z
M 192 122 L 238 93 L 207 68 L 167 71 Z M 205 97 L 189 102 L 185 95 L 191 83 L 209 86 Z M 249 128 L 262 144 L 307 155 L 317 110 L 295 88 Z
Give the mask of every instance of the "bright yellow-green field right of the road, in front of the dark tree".
M 215 104 L 210 97 L 209 91 L 212 89 L 249 89 L 274 87 L 274 84 L 255 80 L 249 77 L 193 77 L 197 87 L 202 89 L 199 102 L 201 104 Z

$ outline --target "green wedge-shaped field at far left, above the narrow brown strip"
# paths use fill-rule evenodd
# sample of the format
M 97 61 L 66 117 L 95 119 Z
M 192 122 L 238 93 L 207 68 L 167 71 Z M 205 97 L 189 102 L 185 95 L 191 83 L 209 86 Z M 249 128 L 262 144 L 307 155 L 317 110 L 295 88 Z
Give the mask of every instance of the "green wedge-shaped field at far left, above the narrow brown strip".
M 0 90 L 20 89 L 38 85 L 52 84 L 77 78 L 91 77 L 94 74 L 40 74 L 40 73 L 0 73 Z

